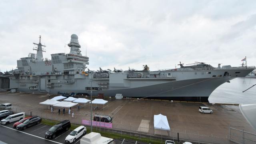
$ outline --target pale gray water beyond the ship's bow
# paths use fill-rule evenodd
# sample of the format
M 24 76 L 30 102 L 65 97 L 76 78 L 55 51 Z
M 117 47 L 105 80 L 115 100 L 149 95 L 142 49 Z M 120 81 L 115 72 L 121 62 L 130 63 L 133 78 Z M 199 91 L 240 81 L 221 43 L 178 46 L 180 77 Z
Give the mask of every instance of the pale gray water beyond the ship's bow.
M 210 103 L 256 104 L 256 78 L 235 78 L 216 88 L 208 98 Z

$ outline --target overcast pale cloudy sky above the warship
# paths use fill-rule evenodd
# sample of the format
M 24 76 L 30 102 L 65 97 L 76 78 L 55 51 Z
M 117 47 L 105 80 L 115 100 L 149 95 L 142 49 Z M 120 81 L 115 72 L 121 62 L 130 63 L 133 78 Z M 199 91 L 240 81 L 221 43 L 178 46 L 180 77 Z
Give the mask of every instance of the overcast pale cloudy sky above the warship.
M 92 70 L 256 65 L 255 0 L 1 0 L 0 18 L 2 71 L 36 53 L 39 35 L 44 58 L 68 53 L 71 34 Z

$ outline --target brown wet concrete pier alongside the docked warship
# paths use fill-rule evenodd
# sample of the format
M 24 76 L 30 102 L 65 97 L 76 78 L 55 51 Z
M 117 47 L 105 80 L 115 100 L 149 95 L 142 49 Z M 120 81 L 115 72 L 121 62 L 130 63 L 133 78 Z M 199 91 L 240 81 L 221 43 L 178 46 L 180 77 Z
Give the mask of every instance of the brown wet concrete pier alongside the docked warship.
M 12 103 L 14 112 L 26 112 L 26 114 L 42 116 L 53 120 L 70 119 L 71 122 L 81 124 L 82 120 L 90 119 L 89 105 L 80 104 L 80 111 L 73 107 L 74 117 L 68 114 L 58 114 L 59 108 L 54 108 L 51 113 L 46 105 L 40 105 L 53 96 L 47 94 L 8 93 L 0 92 L 0 103 Z M 84 97 L 90 99 L 90 97 Z M 171 102 L 168 100 L 137 100 L 105 98 L 108 107 L 97 105 L 93 110 L 96 114 L 110 115 L 113 118 L 113 128 L 139 134 L 166 136 L 201 142 L 214 142 L 226 144 L 230 135 L 230 127 L 256 133 L 242 116 L 237 105 L 209 104 L 197 102 Z M 208 106 L 213 114 L 198 112 L 199 106 Z M 61 109 L 62 112 L 62 109 Z M 154 115 L 163 114 L 168 118 L 171 131 L 154 130 Z M 237 135 L 239 138 L 240 135 Z

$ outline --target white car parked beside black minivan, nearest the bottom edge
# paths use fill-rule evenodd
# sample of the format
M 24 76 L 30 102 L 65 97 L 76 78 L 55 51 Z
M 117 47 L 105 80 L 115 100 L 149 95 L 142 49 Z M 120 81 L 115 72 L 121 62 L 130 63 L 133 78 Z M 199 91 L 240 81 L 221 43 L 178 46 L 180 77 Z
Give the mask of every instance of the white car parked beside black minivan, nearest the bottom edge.
M 86 127 L 79 126 L 76 129 L 74 129 L 70 134 L 65 138 L 65 142 L 72 143 L 75 142 L 76 139 L 78 139 L 80 136 L 86 134 Z

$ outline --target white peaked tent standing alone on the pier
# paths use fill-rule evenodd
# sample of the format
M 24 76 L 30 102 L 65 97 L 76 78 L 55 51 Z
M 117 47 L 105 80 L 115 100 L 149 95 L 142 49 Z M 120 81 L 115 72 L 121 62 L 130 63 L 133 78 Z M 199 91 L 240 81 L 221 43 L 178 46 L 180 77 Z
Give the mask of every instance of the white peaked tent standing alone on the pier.
M 154 115 L 154 128 L 158 130 L 170 130 L 167 117 L 162 114 Z

